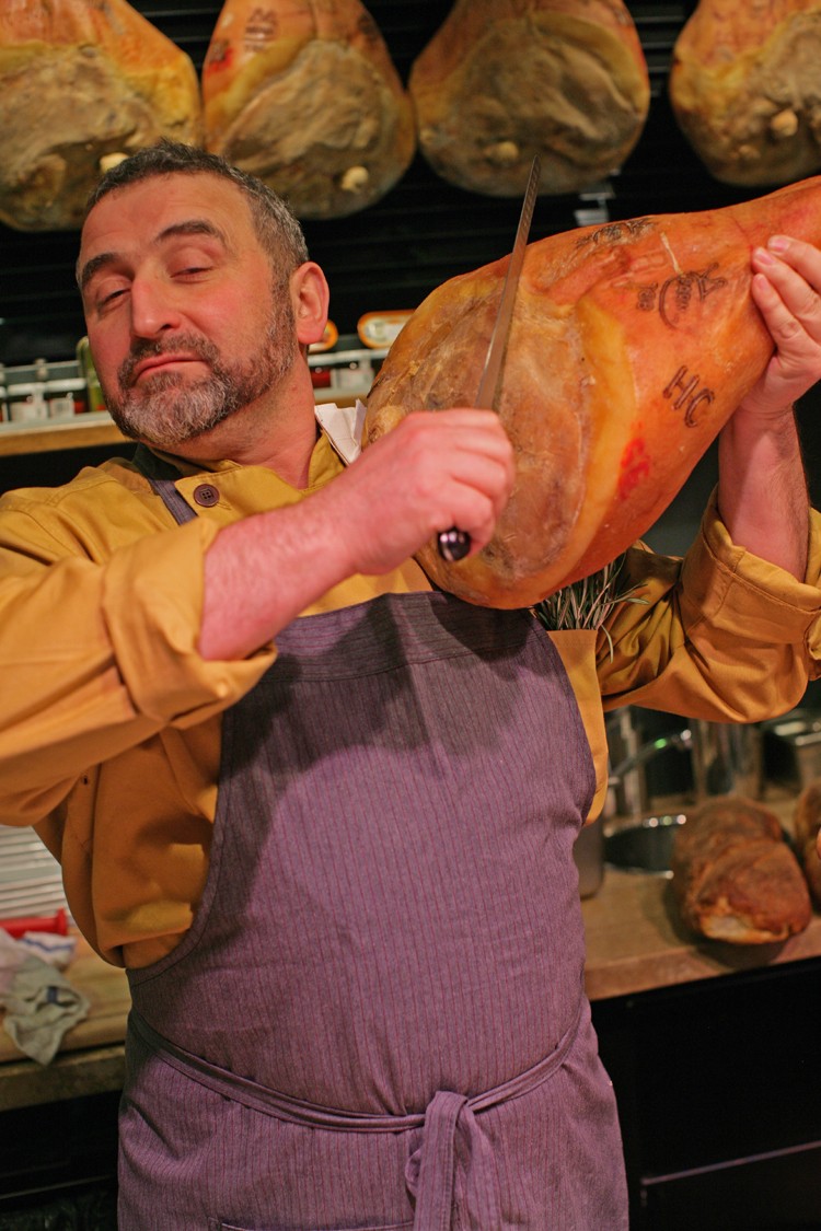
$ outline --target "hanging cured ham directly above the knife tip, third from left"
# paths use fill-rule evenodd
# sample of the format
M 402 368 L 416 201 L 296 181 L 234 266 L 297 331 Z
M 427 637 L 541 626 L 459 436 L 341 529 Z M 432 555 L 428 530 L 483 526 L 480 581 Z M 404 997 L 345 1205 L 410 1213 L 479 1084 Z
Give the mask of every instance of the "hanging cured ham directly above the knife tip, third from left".
M 420 149 L 471 192 L 588 187 L 622 166 L 650 105 L 639 36 L 622 0 L 457 0 L 412 65 Z

